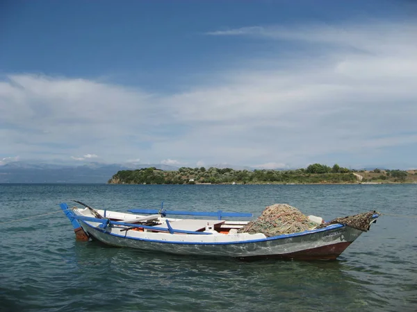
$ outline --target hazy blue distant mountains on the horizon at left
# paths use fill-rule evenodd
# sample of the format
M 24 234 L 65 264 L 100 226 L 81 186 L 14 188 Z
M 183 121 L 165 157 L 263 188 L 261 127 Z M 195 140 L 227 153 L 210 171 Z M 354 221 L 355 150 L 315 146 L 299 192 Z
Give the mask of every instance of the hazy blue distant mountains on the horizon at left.
M 117 171 L 155 167 L 177 170 L 163 164 L 101 164 L 91 162 L 80 166 L 10 162 L 0 166 L 0 183 L 106 183 Z

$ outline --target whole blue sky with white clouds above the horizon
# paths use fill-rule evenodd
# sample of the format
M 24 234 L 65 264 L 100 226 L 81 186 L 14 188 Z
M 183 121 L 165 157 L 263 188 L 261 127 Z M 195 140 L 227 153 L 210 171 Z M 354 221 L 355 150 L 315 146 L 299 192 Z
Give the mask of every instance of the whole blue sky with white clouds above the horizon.
M 1 1 L 0 165 L 417 168 L 417 1 Z

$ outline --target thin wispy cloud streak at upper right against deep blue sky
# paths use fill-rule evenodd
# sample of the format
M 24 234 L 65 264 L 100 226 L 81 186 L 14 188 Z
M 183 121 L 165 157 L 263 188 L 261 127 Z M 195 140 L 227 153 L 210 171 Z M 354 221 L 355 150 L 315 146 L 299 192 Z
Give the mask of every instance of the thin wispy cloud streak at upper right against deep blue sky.
M 211 31 L 207 35 L 252 36 L 265 40 L 287 40 L 328 44 L 341 48 L 355 48 L 357 52 L 375 51 L 379 54 L 391 54 L 402 50 L 412 56 L 416 49 L 411 37 L 416 34 L 414 21 L 367 20 L 357 24 L 300 24 L 284 26 L 250 26 L 224 31 Z M 413 48 L 411 51 L 407 49 Z M 340 50 L 339 50 L 340 51 Z M 352 51 L 350 51 L 352 52 Z

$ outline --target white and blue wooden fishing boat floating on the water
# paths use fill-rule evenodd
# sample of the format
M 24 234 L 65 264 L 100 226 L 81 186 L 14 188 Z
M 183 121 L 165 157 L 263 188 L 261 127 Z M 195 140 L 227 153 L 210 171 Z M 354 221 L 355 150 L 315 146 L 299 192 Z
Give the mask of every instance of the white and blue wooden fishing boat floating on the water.
M 81 202 L 79 202 L 81 203 Z M 81 203 L 82 204 L 82 203 Z M 83 205 L 83 204 L 82 204 Z M 252 214 L 131 209 L 131 213 L 60 204 L 77 239 L 97 239 L 108 245 L 238 259 L 334 260 L 363 231 L 340 223 L 293 234 L 265 236 L 238 233 L 249 221 L 222 220 Z M 167 218 L 166 215 L 209 216 L 210 219 Z M 368 226 L 379 214 L 371 214 Z

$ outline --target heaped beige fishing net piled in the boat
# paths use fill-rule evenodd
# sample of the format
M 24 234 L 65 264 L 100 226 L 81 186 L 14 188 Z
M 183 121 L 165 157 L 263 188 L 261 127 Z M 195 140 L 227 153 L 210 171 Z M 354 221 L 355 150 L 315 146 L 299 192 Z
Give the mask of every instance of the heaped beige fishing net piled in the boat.
M 286 204 L 275 204 L 266 207 L 259 218 L 238 229 L 238 233 L 263 233 L 270 237 L 302 232 L 316 226 L 317 223 L 313 223 L 297 208 Z

